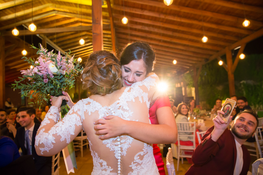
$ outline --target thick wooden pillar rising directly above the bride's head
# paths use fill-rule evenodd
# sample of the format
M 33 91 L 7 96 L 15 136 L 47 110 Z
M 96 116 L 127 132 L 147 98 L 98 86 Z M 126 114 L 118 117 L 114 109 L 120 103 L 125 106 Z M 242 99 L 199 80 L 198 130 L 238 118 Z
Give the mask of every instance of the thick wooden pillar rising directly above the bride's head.
M 93 51 L 103 50 L 102 1 L 92 0 Z

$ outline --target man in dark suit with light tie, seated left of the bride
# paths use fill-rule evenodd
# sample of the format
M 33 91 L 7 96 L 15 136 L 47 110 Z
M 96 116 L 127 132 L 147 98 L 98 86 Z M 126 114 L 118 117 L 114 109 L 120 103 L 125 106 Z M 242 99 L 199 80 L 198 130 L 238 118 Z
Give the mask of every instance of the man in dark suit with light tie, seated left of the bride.
M 19 109 L 18 118 L 22 127 L 17 129 L 15 144 L 22 149 L 23 155 L 33 155 L 38 175 L 51 174 L 52 157 L 39 156 L 35 150 L 35 137 L 40 126 L 34 122 L 36 110 L 34 108 L 22 107 Z

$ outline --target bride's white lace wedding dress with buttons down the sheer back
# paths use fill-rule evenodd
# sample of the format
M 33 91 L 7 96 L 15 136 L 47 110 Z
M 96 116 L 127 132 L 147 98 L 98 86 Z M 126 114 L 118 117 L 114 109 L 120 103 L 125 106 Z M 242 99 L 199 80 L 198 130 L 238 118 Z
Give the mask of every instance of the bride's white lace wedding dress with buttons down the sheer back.
M 51 106 L 39 127 L 35 146 L 41 150 L 41 154 L 56 153 L 84 129 L 93 157 L 92 175 L 158 175 L 152 144 L 127 134 L 101 140 L 94 130 L 94 122 L 107 115 L 150 123 L 148 99 L 155 92 L 157 81 L 158 77 L 153 74 L 130 88 L 82 99 L 58 123 L 58 108 Z

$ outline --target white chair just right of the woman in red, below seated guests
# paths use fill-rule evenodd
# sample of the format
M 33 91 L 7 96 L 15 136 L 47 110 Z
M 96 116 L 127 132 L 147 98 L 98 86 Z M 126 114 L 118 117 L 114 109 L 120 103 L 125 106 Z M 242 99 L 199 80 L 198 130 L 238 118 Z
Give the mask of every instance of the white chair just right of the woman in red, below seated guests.
M 177 122 L 177 130 L 178 130 L 178 154 L 177 154 L 177 171 L 179 170 L 179 161 L 180 157 L 182 159 L 182 164 L 183 158 L 184 157 L 189 157 L 191 158 L 192 155 L 186 155 L 185 151 L 191 152 L 195 149 L 195 122 Z M 186 133 L 188 135 L 186 135 Z M 180 145 L 180 136 L 188 136 L 191 139 L 189 141 L 193 142 L 193 146 L 184 146 Z

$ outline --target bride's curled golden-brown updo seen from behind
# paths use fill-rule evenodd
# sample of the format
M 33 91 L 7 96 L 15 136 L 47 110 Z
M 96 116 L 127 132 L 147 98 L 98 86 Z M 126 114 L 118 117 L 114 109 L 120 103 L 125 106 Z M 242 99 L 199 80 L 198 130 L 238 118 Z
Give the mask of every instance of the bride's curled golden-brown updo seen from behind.
M 106 95 L 122 88 L 120 61 L 106 50 L 93 52 L 85 62 L 81 74 L 87 96 Z

